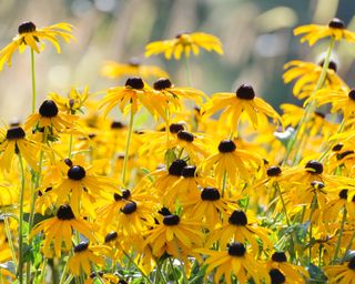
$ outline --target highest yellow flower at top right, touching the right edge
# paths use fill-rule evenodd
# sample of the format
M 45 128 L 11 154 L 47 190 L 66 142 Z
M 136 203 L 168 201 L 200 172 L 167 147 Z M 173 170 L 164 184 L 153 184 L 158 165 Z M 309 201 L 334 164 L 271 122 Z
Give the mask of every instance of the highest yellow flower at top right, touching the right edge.
M 342 20 L 334 18 L 327 26 L 307 24 L 294 29 L 295 36 L 303 34 L 301 42 L 308 41 L 312 47 L 318 40 L 327 37 L 332 37 L 335 40 L 345 39 L 349 42 L 355 42 L 355 33 L 345 29 L 345 24 Z

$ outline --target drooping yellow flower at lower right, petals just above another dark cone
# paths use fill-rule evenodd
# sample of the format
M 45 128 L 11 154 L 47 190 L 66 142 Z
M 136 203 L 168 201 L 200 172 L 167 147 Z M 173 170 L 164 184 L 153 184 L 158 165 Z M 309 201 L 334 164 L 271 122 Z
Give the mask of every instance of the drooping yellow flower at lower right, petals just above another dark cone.
M 258 241 L 264 248 L 271 248 L 272 243 L 268 240 L 268 230 L 257 224 L 257 219 L 252 212 L 245 213 L 242 210 L 234 210 L 229 220 L 222 226 L 214 229 L 207 237 L 207 246 L 219 241 L 222 247 L 225 247 L 231 240 L 250 243 L 253 252 L 260 250 Z

